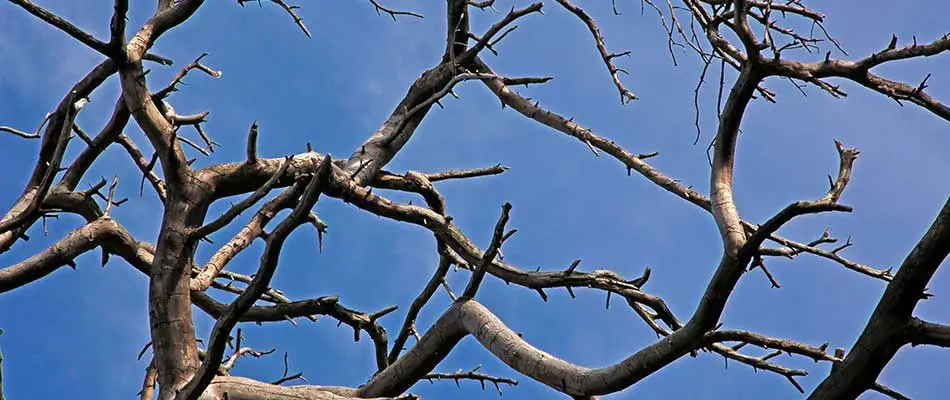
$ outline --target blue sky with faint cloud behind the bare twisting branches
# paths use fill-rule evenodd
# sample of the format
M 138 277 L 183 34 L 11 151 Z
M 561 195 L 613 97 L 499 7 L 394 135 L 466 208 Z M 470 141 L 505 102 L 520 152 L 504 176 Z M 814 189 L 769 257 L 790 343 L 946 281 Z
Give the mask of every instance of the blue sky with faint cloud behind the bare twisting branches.
M 82 4 L 80 4 L 82 3 Z M 282 10 L 272 4 L 241 8 L 233 3 L 208 2 L 185 25 L 163 36 L 155 52 L 176 66 L 152 66 L 150 85 L 164 86 L 202 52 L 205 62 L 224 72 L 220 79 L 194 74 L 189 86 L 171 98 L 181 113 L 211 112 L 207 132 L 224 147 L 198 163 L 243 157 L 244 135 L 251 121 L 261 126 L 260 153 L 280 156 L 304 150 L 336 157 L 349 153 L 389 115 L 411 82 L 435 65 L 443 49 L 442 2 L 389 1 L 425 19 L 377 16 L 369 2 L 301 2 L 301 14 L 313 32 L 307 39 Z M 499 10 L 512 3 L 499 1 Z M 543 86 L 519 90 L 545 107 L 575 117 L 595 132 L 634 152 L 659 151 L 652 164 L 668 175 L 708 192 L 705 148 L 715 126 L 714 86 L 702 92 L 700 144 L 693 145 L 692 93 L 701 69 L 696 57 L 679 54 L 673 67 L 663 29 L 649 9 L 640 14 L 635 1 L 618 1 L 620 16 L 610 2 L 579 5 L 597 18 L 612 51 L 631 50 L 620 59 L 630 71 L 623 77 L 641 100 L 621 106 L 600 62 L 586 27 L 550 2 L 545 15 L 531 15 L 499 45 L 500 56 L 486 55 L 499 73 L 512 76 L 547 75 Z M 78 26 L 107 37 L 110 2 L 44 1 Z M 133 2 L 130 27 L 151 12 L 151 2 Z M 851 57 L 863 57 L 886 46 L 890 35 L 901 43 L 917 35 L 929 41 L 945 33 L 950 6 L 938 0 L 894 7 L 883 0 L 854 5 L 819 5 L 829 16 L 828 28 Z M 483 31 L 500 14 L 474 12 L 475 31 Z M 941 23 L 944 22 L 944 23 Z M 136 28 L 130 28 L 133 31 Z M 805 55 L 807 58 L 807 55 Z M 840 54 L 839 54 L 840 56 Z M 65 34 L 50 29 L 21 9 L 0 6 L 0 124 L 32 130 L 52 110 L 70 85 L 84 75 L 99 56 Z M 886 66 L 878 72 L 918 82 L 933 72 L 930 93 L 950 100 L 950 57 L 947 55 Z M 715 80 L 716 73 L 711 74 Z M 728 76 L 729 74 L 727 74 Z M 834 173 L 838 138 L 861 150 L 851 185 L 842 201 L 852 214 L 802 218 L 787 226 L 785 236 L 808 241 L 826 226 L 855 246 L 851 259 L 879 268 L 897 266 L 922 235 L 950 193 L 950 170 L 945 153 L 950 129 L 927 112 L 868 93 L 848 83 L 850 94 L 836 100 L 816 89 L 803 98 L 787 82 L 770 81 L 778 104 L 761 101 L 750 106 L 740 139 L 736 198 L 743 217 L 763 221 L 791 201 L 819 197 L 825 175 Z M 108 119 L 118 94 L 113 79 L 92 96 L 79 117 L 80 125 L 96 132 Z M 697 304 L 718 261 L 720 242 L 712 218 L 639 176 L 628 177 L 616 161 L 597 158 L 583 144 L 511 110 L 477 82 L 460 85 L 460 100 L 443 101 L 434 109 L 410 144 L 387 167 L 397 173 L 412 169 L 435 172 L 502 163 L 511 170 L 500 176 L 446 182 L 438 187 L 455 222 L 481 245 L 487 245 L 500 205 L 514 206 L 509 226 L 519 233 L 504 248 L 506 260 L 524 269 L 565 268 L 575 258 L 582 270 L 613 269 L 625 277 L 653 269 L 646 286 L 663 296 L 673 311 L 686 319 Z M 138 128 L 126 132 L 140 145 Z M 79 142 L 70 154 L 75 154 Z M 0 135 L 4 165 L 32 165 L 38 141 Z M 5 168 L 0 174 L 0 205 L 8 207 L 22 190 L 29 170 Z M 157 198 L 146 190 L 138 195 L 140 175 L 120 148 L 110 149 L 84 180 L 118 174 L 119 195 L 130 201 L 114 217 L 140 240 L 154 241 L 159 224 Z M 411 197 L 388 194 L 393 199 Z M 226 202 L 217 205 L 212 215 Z M 274 286 L 293 298 L 339 295 L 344 305 L 375 311 L 391 304 L 402 309 L 384 319 L 392 337 L 403 311 L 425 285 L 437 264 L 431 234 L 419 228 L 380 219 L 333 199 L 317 206 L 330 225 L 325 251 L 318 254 L 316 235 L 294 233 L 284 249 Z M 246 217 L 238 223 L 246 221 Z M 42 228 L 34 238 L 0 255 L 8 265 L 41 250 L 79 226 L 77 217 L 51 221 L 49 237 Z M 237 226 L 237 225 L 235 225 Z M 233 233 L 214 236 L 222 243 Z M 260 242 L 231 264 L 250 273 L 263 246 Z M 206 260 L 212 248 L 199 251 Z M 0 296 L 0 348 L 4 354 L 5 394 L 10 400 L 44 399 L 69 393 L 72 398 L 132 398 L 139 390 L 146 361 L 136 361 L 148 341 L 147 283 L 144 276 L 120 260 L 106 268 L 91 252 L 80 258 L 76 271 L 63 269 L 41 281 Z M 761 273 L 740 282 L 724 316 L 725 327 L 848 347 L 864 324 L 884 286 L 831 262 L 801 256 L 774 260 L 771 271 L 782 284 L 771 289 Z M 450 274 L 460 290 L 465 272 Z M 947 323 L 950 277 L 938 272 L 930 285 L 937 296 L 923 302 L 917 315 Z M 654 334 L 628 308 L 613 302 L 604 309 L 604 294 L 577 290 L 549 292 L 543 303 L 534 291 L 487 279 L 479 301 L 536 347 L 576 364 L 600 367 L 615 363 L 655 340 Z M 449 305 L 438 292 L 418 325 L 428 327 Z M 202 337 L 213 323 L 196 312 Z M 248 343 L 260 349 L 290 352 L 291 368 L 311 383 L 359 385 L 373 371 L 368 338 L 353 343 L 352 331 L 329 319 L 316 324 L 288 323 L 245 326 Z M 410 343 L 412 343 L 410 341 Z M 780 357 L 786 365 L 806 368 L 801 379 L 810 390 L 828 365 L 801 358 Z M 885 371 L 882 382 L 912 398 L 938 398 L 945 393 L 950 355 L 932 348 L 902 350 Z M 482 349 L 465 340 L 438 371 L 470 369 L 518 379 L 503 388 L 507 398 L 561 398 L 556 392 L 519 376 Z M 281 357 L 247 359 L 236 374 L 261 380 L 279 377 Z M 692 381 L 690 384 L 684 384 Z M 478 384 L 423 382 L 412 389 L 425 398 L 496 398 Z M 735 362 L 723 369 L 718 356 L 684 358 L 610 399 L 627 398 L 800 398 L 784 378 L 756 374 Z M 867 395 L 867 398 L 877 398 Z

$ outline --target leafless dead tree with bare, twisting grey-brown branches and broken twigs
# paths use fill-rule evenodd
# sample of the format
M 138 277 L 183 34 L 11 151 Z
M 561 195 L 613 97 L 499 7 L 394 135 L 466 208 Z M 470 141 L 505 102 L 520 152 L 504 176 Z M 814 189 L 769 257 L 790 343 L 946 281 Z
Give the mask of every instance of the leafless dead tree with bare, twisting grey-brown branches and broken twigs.
M 263 157 L 257 151 L 260 129 L 252 124 L 247 133 L 244 160 L 201 168 L 195 167 L 196 160 L 188 153 L 209 155 L 214 152 L 217 143 L 202 128 L 208 113 L 179 113 L 170 104 L 169 96 L 179 90 L 187 74 L 218 77 L 221 72 L 205 64 L 205 55 L 202 55 L 184 66 L 171 83 L 156 89 L 156 83 L 147 79 L 146 63 L 172 64 L 171 60 L 150 51 L 164 34 L 188 22 L 204 1 L 158 0 L 154 15 L 141 27 L 132 29 L 134 34 L 129 36 L 129 1 L 116 0 L 109 38 L 100 39 L 31 1 L 9 0 L 104 58 L 67 91 L 36 131 L 0 127 L 4 132 L 41 141 L 36 164 L 22 195 L 0 221 L 0 249 L 6 251 L 18 240 L 29 239 L 27 232 L 34 225 L 40 221 L 45 224 L 46 218 L 58 213 L 75 214 L 86 221 L 46 250 L 0 270 L 0 292 L 35 282 L 60 267 L 75 266 L 76 257 L 95 249 L 101 250 L 103 263 L 111 256 L 118 256 L 147 276 L 152 360 L 142 387 L 143 399 L 154 396 L 162 400 L 408 399 L 415 396 L 407 391 L 426 379 L 471 379 L 495 386 L 516 384 L 511 379 L 486 375 L 477 369 L 433 372 L 456 344 L 468 336 L 518 373 L 575 399 L 593 399 L 624 390 L 683 356 L 699 352 L 715 353 L 779 374 L 802 393 L 806 391 L 796 377 L 805 371 L 783 366 L 773 357 L 788 353 L 831 363 L 830 373 L 811 391 L 810 399 L 853 399 L 869 390 L 903 398 L 877 383 L 878 376 L 897 351 L 909 344 L 950 346 L 950 326 L 914 316 L 918 302 L 929 296 L 928 282 L 950 252 L 950 200 L 896 271 L 875 269 L 841 254 L 851 245 L 850 241 L 830 247 L 836 239 L 829 231 L 811 241 L 796 241 L 777 233 L 799 216 L 851 211 L 851 207 L 839 200 L 851 180 L 858 150 L 835 141 L 838 168 L 835 176 L 829 176 L 827 192 L 817 199 L 792 202 L 773 217 L 756 223 L 743 218 L 734 200 L 736 146 L 750 102 L 753 99 L 775 102 L 776 93 L 764 84 L 780 80 L 790 81 L 800 89 L 814 86 L 835 97 L 845 93 L 834 82 L 850 81 L 898 103 L 913 104 L 938 118 L 950 120 L 950 107 L 927 93 L 930 75 L 920 82 L 905 83 L 872 72 L 884 64 L 946 52 L 950 50 L 950 35 L 929 42 L 915 38 L 903 45 L 895 36 L 873 54 L 837 58 L 832 56 L 833 51 L 843 53 L 843 50 L 825 32 L 822 25 L 825 16 L 799 1 L 683 0 L 667 4 L 644 1 L 646 7 L 655 9 L 660 16 L 669 35 L 671 53 L 674 47 L 685 48 L 702 60 L 705 68 L 700 85 L 705 82 L 711 65 L 719 64 L 722 68 L 723 78 L 718 82 L 722 102 L 710 145 L 708 195 L 651 166 L 648 160 L 657 153 L 628 151 L 573 118 L 542 108 L 537 101 L 515 90 L 515 86 L 542 84 L 550 78 L 505 76 L 483 59 L 486 52 L 501 52 L 503 56 L 500 43 L 506 36 L 516 34 L 513 33 L 515 22 L 537 18 L 545 7 L 562 7 L 590 31 L 621 102 L 637 99 L 621 80 L 621 73 L 625 71 L 615 64 L 618 57 L 628 53 L 608 50 L 595 20 L 568 0 L 512 7 L 507 13 L 479 13 L 479 18 L 496 16 L 483 32 L 470 29 L 470 19 L 476 15 L 473 10 L 493 9 L 496 1 L 448 0 L 441 61 L 418 76 L 385 122 L 349 157 L 334 159 L 317 152 L 319 149 L 312 149 L 309 143 L 306 151 L 298 154 Z M 245 2 L 247 0 L 238 1 L 241 5 Z M 296 6 L 283 0 L 271 2 L 282 7 L 304 34 L 311 35 Z M 421 17 L 414 12 L 387 8 L 376 0 L 370 3 L 378 12 L 393 19 Z M 793 29 L 798 26 L 806 29 L 810 26 L 811 33 Z M 822 49 L 820 45 L 825 43 L 832 47 Z M 789 57 L 796 51 L 823 56 L 814 62 L 796 61 Z M 735 79 L 727 80 L 727 71 L 734 72 Z M 116 75 L 121 83 L 121 96 L 115 101 L 109 121 L 98 134 L 90 136 L 77 125 L 76 117 L 93 92 Z M 446 199 L 434 183 L 500 174 L 505 167 L 404 174 L 385 170 L 432 107 L 441 105 L 440 101 L 454 94 L 453 88 L 464 81 L 480 82 L 504 106 L 576 139 L 595 155 L 614 158 L 628 173 L 642 175 L 712 216 L 721 237 L 721 258 L 701 300 L 685 320 L 684 314 L 674 313 L 663 298 L 646 289 L 651 277 L 649 268 L 641 276 L 630 279 L 605 269 L 584 272 L 579 267 L 580 260 L 555 272 L 532 271 L 504 261 L 503 244 L 515 233 L 508 228 L 511 204 L 501 206 L 488 246 L 484 249 L 477 246 L 446 214 Z M 698 112 L 698 100 L 696 104 Z M 132 121 L 148 138 L 148 147 L 144 150 L 123 133 Z M 194 130 L 200 140 L 189 139 L 186 133 L 190 136 L 190 130 Z M 74 140 L 77 137 L 79 141 Z M 70 144 L 80 146 L 81 150 L 74 159 L 67 160 Z M 142 184 L 148 181 L 164 205 L 160 234 L 151 238 L 154 244 L 133 237 L 120 221 L 111 217 L 112 210 L 125 202 L 116 197 L 117 179 L 102 180 L 89 189 L 79 189 L 89 169 L 113 144 L 128 153 L 141 171 Z M 374 189 L 413 193 L 422 197 L 424 205 L 392 201 Z M 213 203 L 234 196 L 244 198 L 221 215 L 208 215 Z M 393 338 L 380 324 L 380 319 L 396 311 L 395 306 L 361 312 L 343 306 L 335 296 L 292 300 L 271 287 L 282 246 L 292 232 L 310 227 L 322 237 L 327 224 L 312 211 L 321 196 L 342 200 L 360 210 L 417 226 L 434 235 L 439 266 L 408 306 Z M 224 243 L 210 239 L 212 234 L 233 225 L 242 213 L 254 207 L 257 208 L 253 216 L 233 237 Z M 289 213 L 282 213 L 287 210 Z M 275 219 L 277 221 L 272 221 Z M 269 224 L 273 226 L 267 228 Z M 242 275 L 228 271 L 228 263 L 257 240 L 265 244 L 257 272 Z M 210 259 L 200 263 L 196 251 L 204 246 L 215 250 Z M 828 345 L 814 346 L 722 328 L 721 317 L 727 302 L 745 272 L 759 269 L 777 286 L 766 261 L 799 255 L 827 259 L 886 283 L 883 296 L 851 350 L 829 351 Z M 446 274 L 453 265 L 470 272 L 467 285 L 458 292 L 446 282 Z M 486 279 L 500 279 L 512 286 L 534 290 L 545 300 L 546 290 L 553 289 L 565 289 L 571 296 L 578 288 L 606 292 L 608 301 L 610 296 L 622 298 L 658 339 L 615 365 L 599 369 L 577 366 L 535 348 L 480 304 L 476 297 Z M 236 297 L 224 303 L 209 294 L 211 289 Z M 439 290 L 448 291 L 454 302 L 441 310 L 442 316 L 433 326 L 428 329 L 417 326 L 415 321 L 420 311 Z M 209 339 L 201 342 L 201 347 L 192 306 L 216 320 Z M 320 315 L 349 325 L 357 339 L 361 332 L 371 338 L 376 371 L 364 385 L 358 388 L 284 386 L 299 377 L 288 375 L 286 370 L 283 378 L 272 383 L 230 375 L 240 357 L 267 353 L 242 344 L 241 329 L 235 332 L 238 323 L 293 322 Z M 411 337 L 415 340 L 410 346 Z M 774 352 L 757 356 L 746 352 L 748 348 Z M 142 354 L 145 353 L 143 349 Z

